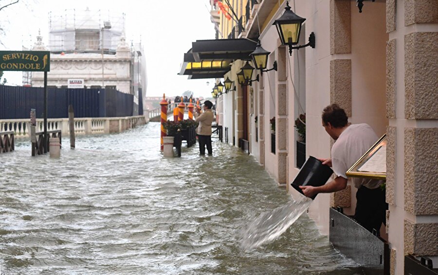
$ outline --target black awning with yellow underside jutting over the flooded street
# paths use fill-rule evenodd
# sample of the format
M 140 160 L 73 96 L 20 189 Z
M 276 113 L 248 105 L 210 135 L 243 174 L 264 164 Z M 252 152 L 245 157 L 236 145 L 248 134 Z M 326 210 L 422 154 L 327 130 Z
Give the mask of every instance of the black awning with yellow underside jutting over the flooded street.
M 221 78 L 234 60 L 251 60 L 249 54 L 256 46 L 249 39 L 196 40 L 192 49 L 184 53 L 179 74 L 188 75 L 189 79 Z

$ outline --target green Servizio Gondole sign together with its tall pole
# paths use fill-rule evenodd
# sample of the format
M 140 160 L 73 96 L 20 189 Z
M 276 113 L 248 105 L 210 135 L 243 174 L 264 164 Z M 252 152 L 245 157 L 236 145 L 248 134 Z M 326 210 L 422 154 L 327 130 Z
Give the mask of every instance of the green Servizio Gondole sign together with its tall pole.
M 0 51 L 1 71 L 44 72 L 44 153 L 47 153 L 47 72 L 50 71 L 50 52 Z

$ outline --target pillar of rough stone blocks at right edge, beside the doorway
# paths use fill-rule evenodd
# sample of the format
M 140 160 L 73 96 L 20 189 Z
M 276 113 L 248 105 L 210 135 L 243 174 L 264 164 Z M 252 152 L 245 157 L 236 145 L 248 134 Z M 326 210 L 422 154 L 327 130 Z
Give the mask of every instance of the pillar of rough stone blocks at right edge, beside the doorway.
M 404 256 L 438 261 L 438 12 L 432 0 L 386 0 L 386 202 L 391 274 Z

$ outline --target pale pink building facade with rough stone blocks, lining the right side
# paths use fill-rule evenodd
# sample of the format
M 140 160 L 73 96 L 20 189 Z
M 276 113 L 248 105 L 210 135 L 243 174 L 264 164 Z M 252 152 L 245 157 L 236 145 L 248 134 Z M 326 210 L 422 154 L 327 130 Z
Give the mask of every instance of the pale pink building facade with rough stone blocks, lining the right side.
M 381 236 L 390 248 L 390 273 L 404 274 L 409 255 L 430 258 L 438 268 L 436 5 L 429 0 L 291 0 L 292 11 L 306 18 L 299 45 L 311 33 L 316 43 L 290 54 L 273 25 L 286 2 L 210 0 L 218 41 L 260 41 L 270 52 L 267 69 L 277 63 L 277 70 L 254 70 L 252 78 L 259 74 L 259 81 L 250 86 L 237 84 L 237 72 L 249 57 L 230 60 L 231 69 L 217 77 L 234 82 L 218 98 L 225 141 L 240 147 L 247 143 L 249 152 L 293 195 L 290 183 L 299 172 L 301 145 L 306 157 L 330 157 L 335 141 L 322 127 L 321 112 L 339 104 L 350 123 L 367 123 L 379 137 L 386 134 L 389 210 Z M 200 60 L 197 44 L 191 49 L 193 61 L 207 60 Z M 305 140 L 294 127 L 303 114 Z M 355 194 L 349 182 L 343 191 L 316 197 L 309 215 L 322 234 L 330 232 L 330 207 L 354 214 Z

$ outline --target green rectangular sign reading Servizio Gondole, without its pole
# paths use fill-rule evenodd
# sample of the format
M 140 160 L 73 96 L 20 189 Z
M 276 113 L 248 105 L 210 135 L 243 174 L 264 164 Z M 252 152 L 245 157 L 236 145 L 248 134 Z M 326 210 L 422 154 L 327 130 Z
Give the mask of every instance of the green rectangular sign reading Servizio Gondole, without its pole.
M 50 52 L 0 51 L 0 70 L 50 71 Z

